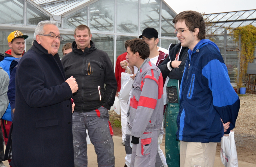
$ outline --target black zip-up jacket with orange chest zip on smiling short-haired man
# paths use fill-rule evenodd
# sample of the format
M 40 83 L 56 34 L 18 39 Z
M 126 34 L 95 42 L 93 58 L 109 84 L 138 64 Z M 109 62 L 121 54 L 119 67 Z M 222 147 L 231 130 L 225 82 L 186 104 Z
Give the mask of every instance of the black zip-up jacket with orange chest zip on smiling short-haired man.
M 90 112 L 103 106 L 110 110 L 114 104 L 117 82 L 114 68 L 108 54 L 95 47 L 84 51 L 72 43 L 72 52 L 66 54 L 61 62 L 66 77 L 73 75 L 78 84 L 78 91 L 73 94 L 75 112 Z M 104 88 L 104 84 L 106 85 Z

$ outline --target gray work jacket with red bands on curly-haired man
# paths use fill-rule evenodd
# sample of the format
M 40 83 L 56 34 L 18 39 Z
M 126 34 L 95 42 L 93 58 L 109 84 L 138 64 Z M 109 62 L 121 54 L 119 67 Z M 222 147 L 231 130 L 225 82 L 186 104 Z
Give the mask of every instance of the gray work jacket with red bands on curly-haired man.
M 160 130 L 163 121 L 163 77 L 149 59 L 145 59 L 134 79 L 130 101 L 131 135 L 141 137 L 145 131 Z

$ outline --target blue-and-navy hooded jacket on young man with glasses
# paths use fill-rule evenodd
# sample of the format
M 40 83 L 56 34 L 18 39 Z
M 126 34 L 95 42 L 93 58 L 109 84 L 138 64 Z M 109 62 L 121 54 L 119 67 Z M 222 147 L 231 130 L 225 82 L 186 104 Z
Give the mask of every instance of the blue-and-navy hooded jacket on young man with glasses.
M 180 88 L 177 139 L 188 142 L 220 142 L 235 127 L 240 100 L 230 84 L 218 46 L 201 40 L 188 50 Z

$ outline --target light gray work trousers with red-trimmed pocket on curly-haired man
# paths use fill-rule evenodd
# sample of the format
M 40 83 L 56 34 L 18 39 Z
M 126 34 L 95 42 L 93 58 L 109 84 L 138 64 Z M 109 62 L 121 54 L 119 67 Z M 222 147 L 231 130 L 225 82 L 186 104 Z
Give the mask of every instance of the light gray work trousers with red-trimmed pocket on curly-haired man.
M 131 167 L 155 167 L 160 130 L 145 131 L 139 144 L 132 145 Z

